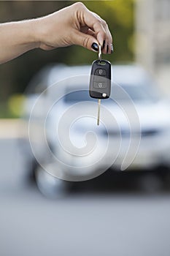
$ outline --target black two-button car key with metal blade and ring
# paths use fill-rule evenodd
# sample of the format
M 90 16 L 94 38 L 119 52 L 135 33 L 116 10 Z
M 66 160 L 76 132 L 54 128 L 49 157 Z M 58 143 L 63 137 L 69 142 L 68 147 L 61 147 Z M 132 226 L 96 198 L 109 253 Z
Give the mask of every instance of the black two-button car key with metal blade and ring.
M 93 61 L 90 74 L 90 97 L 98 99 L 99 125 L 101 99 L 108 99 L 111 91 L 111 64 L 109 61 L 101 59 L 101 45 L 98 48 L 98 60 Z

